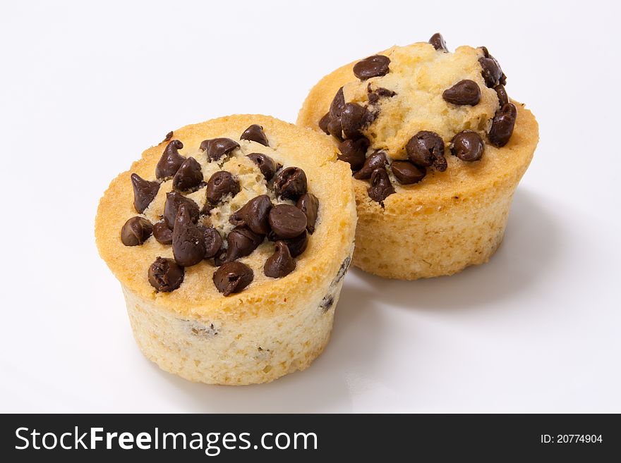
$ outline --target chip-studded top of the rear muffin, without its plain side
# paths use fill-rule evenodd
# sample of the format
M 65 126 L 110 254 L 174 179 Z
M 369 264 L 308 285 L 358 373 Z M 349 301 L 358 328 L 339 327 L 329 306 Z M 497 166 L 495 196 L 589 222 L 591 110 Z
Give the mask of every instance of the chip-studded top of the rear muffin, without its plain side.
M 399 202 L 389 199 L 394 193 L 411 192 L 405 201 L 428 204 L 466 195 L 500 171 L 524 173 L 531 150 L 524 149 L 527 159 L 507 156 L 524 136 L 536 143 L 536 122 L 507 96 L 506 83 L 486 47 L 450 52 L 435 34 L 327 75 L 311 90 L 298 123 L 331 136 L 370 201 L 383 208 Z M 524 131 L 514 140 L 520 123 Z

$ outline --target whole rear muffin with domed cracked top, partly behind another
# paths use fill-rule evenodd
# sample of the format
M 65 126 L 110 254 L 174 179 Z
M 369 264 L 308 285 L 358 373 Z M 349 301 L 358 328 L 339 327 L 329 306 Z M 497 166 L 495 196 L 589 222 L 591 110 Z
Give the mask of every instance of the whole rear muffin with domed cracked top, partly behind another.
M 482 264 L 538 142 L 486 47 L 429 42 L 349 63 L 310 91 L 298 124 L 325 132 L 351 166 L 354 265 L 387 278 Z

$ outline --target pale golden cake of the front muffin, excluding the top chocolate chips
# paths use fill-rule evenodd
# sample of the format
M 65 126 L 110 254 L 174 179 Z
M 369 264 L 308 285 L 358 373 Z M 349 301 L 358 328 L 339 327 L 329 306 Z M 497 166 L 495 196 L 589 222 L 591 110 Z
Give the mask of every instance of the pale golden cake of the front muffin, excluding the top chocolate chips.
M 263 126 L 269 146 L 240 140 L 252 124 Z M 240 147 L 210 163 L 199 147 L 203 140 L 216 137 L 229 137 Z M 139 214 L 130 175 L 154 181 L 156 165 L 171 139 L 183 143 L 179 154 L 200 163 L 205 180 L 220 170 L 239 180 L 239 193 L 224 198 L 199 219 L 223 237 L 233 228 L 228 221 L 231 212 L 253 197 L 265 194 L 273 204 L 291 204 L 273 195 L 247 154 L 264 153 L 285 168 L 297 166 L 305 171 L 308 191 L 318 198 L 320 207 L 306 251 L 296 257 L 291 273 L 282 278 L 265 276 L 263 266 L 275 250 L 275 243 L 266 239 L 251 255 L 237 259 L 254 273 L 252 283 L 241 292 L 224 296 L 217 290 L 213 282 L 217 267 L 210 259 L 186 267 L 183 283 L 175 290 L 155 290 L 148 280 L 149 266 L 157 257 L 173 259 L 171 245 L 150 235 L 140 245 L 126 246 L 120 231 L 134 216 L 152 223 L 162 221 L 171 181 L 161 183 L 155 199 Z M 203 209 L 204 185 L 183 194 Z M 111 182 L 95 219 L 97 247 L 121 283 L 133 333 L 145 356 L 164 371 L 190 381 L 231 385 L 265 383 L 306 369 L 322 352 L 351 261 L 355 228 L 349 166 L 337 161 L 330 140 L 260 115 L 227 116 L 174 130 Z

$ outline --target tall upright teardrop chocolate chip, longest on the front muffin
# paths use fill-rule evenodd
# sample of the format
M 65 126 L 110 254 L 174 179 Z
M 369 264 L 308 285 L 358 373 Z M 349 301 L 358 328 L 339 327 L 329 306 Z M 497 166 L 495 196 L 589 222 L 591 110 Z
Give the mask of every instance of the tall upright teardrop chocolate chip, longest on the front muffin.
M 172 232 L 172 253 L 177 264 L 189 267 L 205 258 L 203 230 L 194 225 L 188 206 L 181 204 Z

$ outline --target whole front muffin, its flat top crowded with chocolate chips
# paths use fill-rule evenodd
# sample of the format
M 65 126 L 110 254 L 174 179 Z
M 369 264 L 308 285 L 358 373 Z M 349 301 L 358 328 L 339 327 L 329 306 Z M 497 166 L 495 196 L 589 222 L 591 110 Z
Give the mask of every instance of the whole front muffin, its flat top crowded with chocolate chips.
M 349 165 L 327 138 L 229 116 L 147 149 L 104 193 L 95 236 L 144 354 L 236 385 L 322 352 L 355 227 Z

